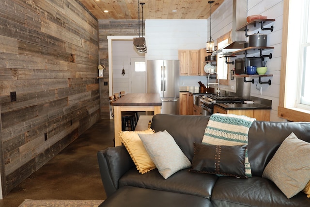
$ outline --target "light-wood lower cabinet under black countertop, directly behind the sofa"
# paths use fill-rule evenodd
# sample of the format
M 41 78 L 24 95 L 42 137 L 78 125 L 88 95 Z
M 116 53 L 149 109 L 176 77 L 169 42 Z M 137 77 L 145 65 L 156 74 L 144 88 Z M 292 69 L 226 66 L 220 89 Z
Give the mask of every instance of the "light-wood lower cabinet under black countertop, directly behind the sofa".
M 213 113 L 224 113 L 224 114 L 236 114 L 245 115 L 248 117 L 256 118 L 257 121 L 270 121 L 270 110 L 269 109 L 250 109 L 250 110 L 225 110 L 217 105 L 214 105 Z

